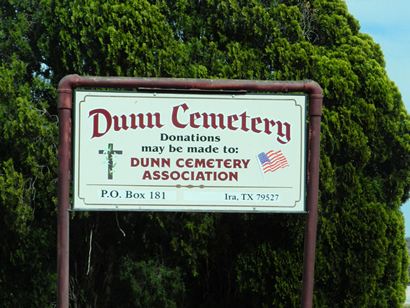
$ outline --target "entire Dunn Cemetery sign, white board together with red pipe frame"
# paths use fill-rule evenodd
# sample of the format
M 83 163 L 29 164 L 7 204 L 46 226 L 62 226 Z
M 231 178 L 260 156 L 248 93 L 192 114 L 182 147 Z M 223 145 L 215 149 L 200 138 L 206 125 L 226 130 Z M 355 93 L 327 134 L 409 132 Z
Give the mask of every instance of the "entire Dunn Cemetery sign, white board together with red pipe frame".
M 58 307 L 69 305 L 71 171 L 74 210 L 307 212 L 302 307 L 312 306 L 322 106 L 318 84 L 69 75 L 60 81 L 58 93 Z M 282 176 L 272 175 L 279 169 Z

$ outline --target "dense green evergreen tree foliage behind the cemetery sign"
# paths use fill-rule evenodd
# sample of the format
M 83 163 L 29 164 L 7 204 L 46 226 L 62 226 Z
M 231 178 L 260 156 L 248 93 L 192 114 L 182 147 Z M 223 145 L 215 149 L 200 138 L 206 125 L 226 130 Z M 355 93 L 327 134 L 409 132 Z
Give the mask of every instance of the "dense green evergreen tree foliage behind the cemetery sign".
M 56 86 L 102 76 L 324 89 L 315 306 L 399 307 L 410 118 L 342 0 L 4 0 L 0 302 L 55 302 Z M 303 215 L 71 215 L 74 307 L 294 307 Z

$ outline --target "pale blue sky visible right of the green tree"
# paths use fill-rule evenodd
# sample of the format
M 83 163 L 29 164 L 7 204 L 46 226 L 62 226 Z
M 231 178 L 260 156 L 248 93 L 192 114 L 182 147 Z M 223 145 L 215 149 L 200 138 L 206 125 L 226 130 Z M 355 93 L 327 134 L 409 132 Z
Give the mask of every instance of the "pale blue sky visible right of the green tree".
M 399 87 L 410 111 L 410 0 L 346 0 L 361 32 L 381 46 L 387 73 Z M 410 201 L 402 207 L 406 237 L 410 237 Z

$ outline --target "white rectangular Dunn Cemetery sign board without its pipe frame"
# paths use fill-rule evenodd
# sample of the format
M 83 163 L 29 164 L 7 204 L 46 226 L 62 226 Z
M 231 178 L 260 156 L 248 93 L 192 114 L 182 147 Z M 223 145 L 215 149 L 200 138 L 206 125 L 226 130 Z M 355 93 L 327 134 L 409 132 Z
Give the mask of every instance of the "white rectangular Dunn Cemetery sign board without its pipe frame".
M 75 92 L 74 210 L 304 212 L 306 96 Z

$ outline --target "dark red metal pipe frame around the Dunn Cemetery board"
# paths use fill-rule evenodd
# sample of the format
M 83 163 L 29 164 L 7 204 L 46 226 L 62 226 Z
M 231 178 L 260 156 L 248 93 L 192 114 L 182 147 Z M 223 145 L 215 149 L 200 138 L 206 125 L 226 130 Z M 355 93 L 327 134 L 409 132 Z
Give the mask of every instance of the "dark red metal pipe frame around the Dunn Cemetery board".
M 307 153 L 307 221 L 304 243 L 302 307 L 312 307 L 318 218 L 320 123 L 323 92 L 314 81 L 204 80 L 173 78 L 83 77 L 67 75 L 58 86 L 60 141 L 58 149 L 57 306 L 69 307 L 69 210 L 72 151 L 72 109 L 75 88 L 168 91 L 302 92 L 309 95 Z

